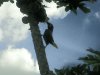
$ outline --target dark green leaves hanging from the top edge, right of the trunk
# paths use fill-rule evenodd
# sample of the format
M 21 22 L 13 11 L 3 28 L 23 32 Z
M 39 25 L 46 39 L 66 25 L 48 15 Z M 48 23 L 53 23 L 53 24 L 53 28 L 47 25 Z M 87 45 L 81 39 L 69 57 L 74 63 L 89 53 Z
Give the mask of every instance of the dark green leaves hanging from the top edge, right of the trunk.
M 58 8 L 65 6 L 65 11 L 73 11 L 77 14 L 77 8 L 81 9 L 84 13 L 89 13 L 90 9 L 85 6 L 84 2 L 94 3 L 96 0 L 53 0 L 58 4 Z

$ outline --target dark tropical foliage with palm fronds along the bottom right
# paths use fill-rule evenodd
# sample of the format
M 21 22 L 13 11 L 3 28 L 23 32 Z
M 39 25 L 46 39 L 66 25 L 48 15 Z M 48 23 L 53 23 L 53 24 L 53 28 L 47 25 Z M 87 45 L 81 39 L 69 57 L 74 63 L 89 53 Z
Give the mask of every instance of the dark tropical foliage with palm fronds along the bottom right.
M 84 64 L 73 67 L 64 67 L 60 70 L 55 69 L 57 75 L 100 75 L 100 51 L 92 48 L 87 49 L 90 53 L 79 58 Z

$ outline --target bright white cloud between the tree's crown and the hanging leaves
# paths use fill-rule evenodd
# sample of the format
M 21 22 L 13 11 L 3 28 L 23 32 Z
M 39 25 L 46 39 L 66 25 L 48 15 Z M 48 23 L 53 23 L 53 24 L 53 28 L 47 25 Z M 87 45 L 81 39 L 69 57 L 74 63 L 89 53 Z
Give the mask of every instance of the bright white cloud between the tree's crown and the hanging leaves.
M 70 12 L 65 12 L 65 7 L 57 8 L 56 3 L 51 2 L 43 2 L 43 4 L 47 5 L 46 8 L 47 15 L 50 19 L 63 19 L 66 17 Z

